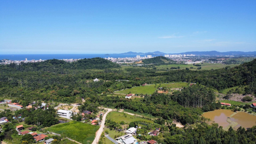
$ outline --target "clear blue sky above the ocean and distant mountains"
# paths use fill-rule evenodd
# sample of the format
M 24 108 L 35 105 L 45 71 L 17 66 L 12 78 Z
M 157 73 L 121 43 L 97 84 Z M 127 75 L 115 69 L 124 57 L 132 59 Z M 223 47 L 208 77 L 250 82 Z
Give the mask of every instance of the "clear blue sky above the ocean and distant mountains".
M 0 54 L 211 50 L 256 51 L 256 1 L 0 1 Z

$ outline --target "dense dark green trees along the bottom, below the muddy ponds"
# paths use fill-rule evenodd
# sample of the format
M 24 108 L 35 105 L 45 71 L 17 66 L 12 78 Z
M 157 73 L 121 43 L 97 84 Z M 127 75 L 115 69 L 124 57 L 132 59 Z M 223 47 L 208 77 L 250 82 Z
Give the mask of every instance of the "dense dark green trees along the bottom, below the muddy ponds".
M 232 127 L 224 131 L 218 124 L 208 125 L 207 123 L 196 124 L 183 129 L 169 125 L 169 132 L 164 132 L 162 140 L 158 136 L 152 139 L 165 144 L 255 144 L 256 126 L 252 128 L 239 127 L 237 131 Z

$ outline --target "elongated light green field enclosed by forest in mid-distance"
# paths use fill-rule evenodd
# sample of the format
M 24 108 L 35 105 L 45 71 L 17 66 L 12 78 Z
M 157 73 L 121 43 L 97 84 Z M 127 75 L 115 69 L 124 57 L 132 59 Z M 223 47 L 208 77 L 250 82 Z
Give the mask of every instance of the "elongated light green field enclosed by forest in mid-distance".
M 181 88 L 187 86 L 188 83 L 185 82 L 179 82 L 179 83 L 168 83 L 168 84 L 161 84 L 160 87 L 168 87 L 168 88 Z M 152 94 L 153 92 L 156 91 L 157 87 L 159 84 L 155 85 L 145 85 L 145 86 L 138 86 L 138 87 L 133 87 L 130 89 L 125 89 L 121 91 L 116 91 L 115 93 L 120 93 L 120 94 L 128 94 L 128 93 L 133 93 L 133 94 Z

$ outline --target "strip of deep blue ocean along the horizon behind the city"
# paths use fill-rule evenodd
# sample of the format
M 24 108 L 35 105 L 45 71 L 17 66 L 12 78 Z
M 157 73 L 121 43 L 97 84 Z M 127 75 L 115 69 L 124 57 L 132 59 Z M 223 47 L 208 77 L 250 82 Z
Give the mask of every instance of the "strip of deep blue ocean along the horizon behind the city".
M 125 58 L 125 57 L 136 57 L 136 55 L 140 55 L 141 57 L 147 56 L 146 54 L 0 54 L 0 60 L 8 59 L 8 60 L 48 60 L 48 59 L 84 59 L 84 58 Z M 160 56 L 151 54 L 152 57 Z

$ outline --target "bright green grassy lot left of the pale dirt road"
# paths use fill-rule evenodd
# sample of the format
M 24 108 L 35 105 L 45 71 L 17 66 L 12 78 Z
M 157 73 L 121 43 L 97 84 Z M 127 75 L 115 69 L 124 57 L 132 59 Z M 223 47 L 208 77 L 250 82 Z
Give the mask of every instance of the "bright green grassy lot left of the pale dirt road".
M 93 142 L 95 132 L 99 129 L 99 126 L 85 124 L 82 122 L 71 121 L 69 123 L 57 124 L 51 126 L 47 130 L 58 134 L 65 134 L 68 138 L 74 139 L 78 142 L 87 144 L 87 140 L 90 143 Z

